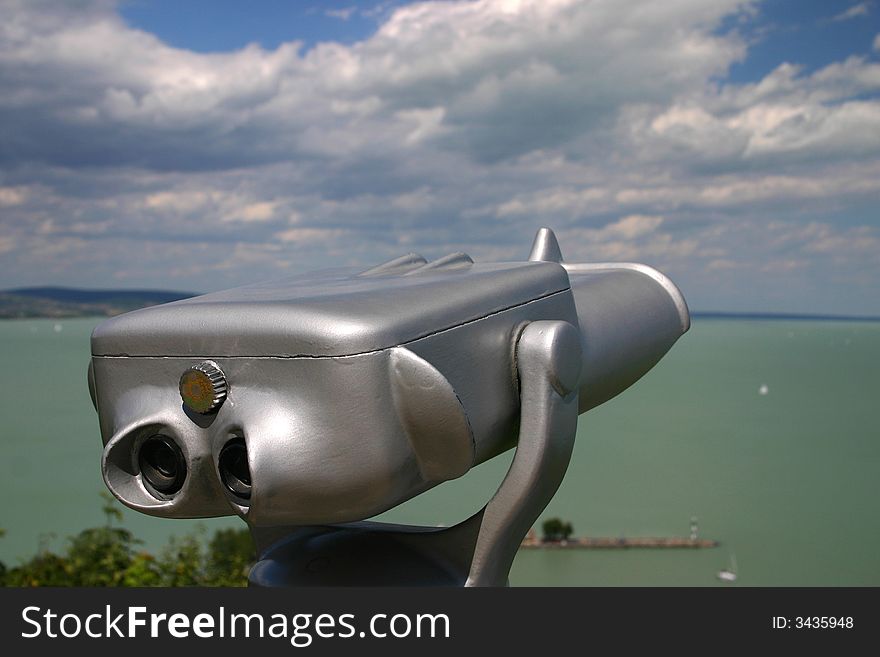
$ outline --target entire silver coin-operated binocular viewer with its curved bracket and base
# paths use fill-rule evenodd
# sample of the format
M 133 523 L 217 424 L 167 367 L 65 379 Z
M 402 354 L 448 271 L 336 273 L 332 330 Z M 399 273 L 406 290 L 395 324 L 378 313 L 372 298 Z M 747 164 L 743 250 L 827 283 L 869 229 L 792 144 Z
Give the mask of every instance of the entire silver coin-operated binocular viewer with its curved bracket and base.
M 252 585 L 498 586 L 568 466 L 577 417 L 689 326 L 644 265 L 410 254 L 138 310 L 92 335 L 102 472 L 154 516 L 239 515 Z M 367 519 L 516 452 L 448 528 Z

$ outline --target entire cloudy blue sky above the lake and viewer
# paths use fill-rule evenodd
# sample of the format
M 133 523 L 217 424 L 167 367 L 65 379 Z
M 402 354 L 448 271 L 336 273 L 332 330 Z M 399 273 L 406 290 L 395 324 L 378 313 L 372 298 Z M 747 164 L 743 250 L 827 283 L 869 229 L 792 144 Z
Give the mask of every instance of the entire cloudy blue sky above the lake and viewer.
M 408 252 L 880 315 L 880 2 L 0 0 L 0 289 Z

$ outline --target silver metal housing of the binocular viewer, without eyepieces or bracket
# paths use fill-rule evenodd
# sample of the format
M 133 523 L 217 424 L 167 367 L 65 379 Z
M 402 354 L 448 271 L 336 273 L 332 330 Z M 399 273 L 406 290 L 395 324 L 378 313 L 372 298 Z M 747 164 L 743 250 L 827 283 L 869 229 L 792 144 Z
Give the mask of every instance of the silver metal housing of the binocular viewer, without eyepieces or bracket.
M 517 339 L 543 320 L 579 329 L 578 412 L 638 380 L 689 322 L 656 270 L 563 263 L 547 229 L 527 262 L 410 254 L 109 319 L 93 333 L 90 368 L 104 479 L 155 516 L 238 514 L 252 527 L 369 518 L 514 446 Z M 199 415 L 177 383 L 205 360 L 228 391 L 216 413 Z M 174 495 L 138 471 L 155 434 L 186 459 Z M 247 446 L 248 500 L 218 472 L 235 438 Z

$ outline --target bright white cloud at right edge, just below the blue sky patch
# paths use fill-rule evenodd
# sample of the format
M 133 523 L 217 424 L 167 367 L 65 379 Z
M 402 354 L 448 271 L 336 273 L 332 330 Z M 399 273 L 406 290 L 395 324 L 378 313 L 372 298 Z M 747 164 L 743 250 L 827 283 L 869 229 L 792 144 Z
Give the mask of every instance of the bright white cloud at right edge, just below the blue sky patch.
M 809 76 L 781 65 L 763 80 L 677 103 L 634 123 L 658 157 L 772 162 L 880 154 L 880 64 L 853 57 Z M 782 160 L 784 161 L 784 160 Z

